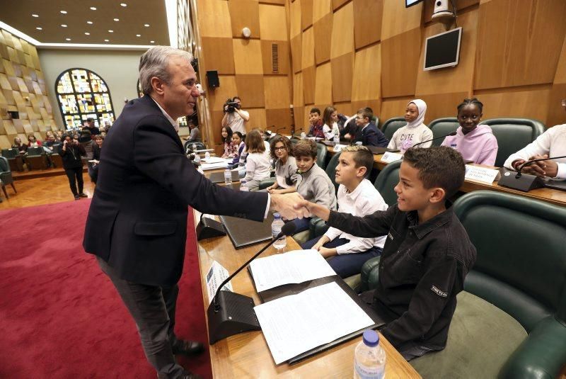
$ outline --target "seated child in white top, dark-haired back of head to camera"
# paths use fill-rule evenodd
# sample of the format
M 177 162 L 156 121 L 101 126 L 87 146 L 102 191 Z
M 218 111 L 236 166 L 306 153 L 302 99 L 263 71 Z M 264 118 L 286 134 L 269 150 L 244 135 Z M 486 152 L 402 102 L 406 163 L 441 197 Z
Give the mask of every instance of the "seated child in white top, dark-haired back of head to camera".
M 250 191 L 258 191 L 260 181 L 271 175 L 270 154 L 265 151 L 265 145 L 258 130 L 252 130 L 246 135 L 246 186 Z

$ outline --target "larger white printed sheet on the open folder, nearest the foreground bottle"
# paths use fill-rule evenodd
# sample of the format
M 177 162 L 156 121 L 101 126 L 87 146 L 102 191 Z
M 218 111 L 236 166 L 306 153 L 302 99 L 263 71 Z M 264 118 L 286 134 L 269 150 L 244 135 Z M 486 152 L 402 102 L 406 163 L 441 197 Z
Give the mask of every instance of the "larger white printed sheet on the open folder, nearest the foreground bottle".
M 335 282 L 254 310 L 276 364 L 374 324 Z

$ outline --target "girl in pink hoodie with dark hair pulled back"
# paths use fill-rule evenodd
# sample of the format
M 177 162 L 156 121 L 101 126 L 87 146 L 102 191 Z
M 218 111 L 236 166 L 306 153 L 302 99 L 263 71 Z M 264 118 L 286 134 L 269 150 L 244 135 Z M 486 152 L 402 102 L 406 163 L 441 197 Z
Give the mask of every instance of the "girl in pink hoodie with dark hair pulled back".
M 458 106 L 460 128 L 456 135 L 444 138 L 442 146 L 452 147 L 465 161 L 493 166 L 497 156 L 497 139 L 488 125 L 478 125 L 483 104 L 477 98 L 465 98 Z

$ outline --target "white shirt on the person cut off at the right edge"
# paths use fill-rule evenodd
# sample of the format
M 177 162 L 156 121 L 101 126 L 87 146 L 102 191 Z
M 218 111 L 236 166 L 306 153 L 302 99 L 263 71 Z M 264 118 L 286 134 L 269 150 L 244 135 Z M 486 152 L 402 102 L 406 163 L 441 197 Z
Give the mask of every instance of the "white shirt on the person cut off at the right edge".
M 536 154 L 548 154 L 549 158 L 566 155 L 566 124 L 548 128 L 529 145 L 511 154 L 503 166 L 507 167 L 507 169 L 514 169 L 511 165 L 514 161 L 517 159 L 528 161 Z M 558 174 L 553 179 L 566 179 L 566 158 L 553 160 L 558 164 Z

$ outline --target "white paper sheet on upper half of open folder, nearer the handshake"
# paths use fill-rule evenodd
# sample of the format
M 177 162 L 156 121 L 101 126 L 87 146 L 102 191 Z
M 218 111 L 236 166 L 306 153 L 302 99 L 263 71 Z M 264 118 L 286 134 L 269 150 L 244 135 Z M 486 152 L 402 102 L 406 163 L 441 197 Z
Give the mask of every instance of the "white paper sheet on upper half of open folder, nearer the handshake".
M 289 283 L 303 283 L 336 275 L 316 250 L 294 250 L 255 259 L 250 264 L 258 292 Z

